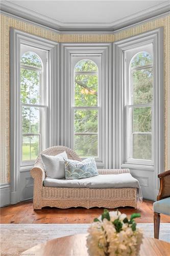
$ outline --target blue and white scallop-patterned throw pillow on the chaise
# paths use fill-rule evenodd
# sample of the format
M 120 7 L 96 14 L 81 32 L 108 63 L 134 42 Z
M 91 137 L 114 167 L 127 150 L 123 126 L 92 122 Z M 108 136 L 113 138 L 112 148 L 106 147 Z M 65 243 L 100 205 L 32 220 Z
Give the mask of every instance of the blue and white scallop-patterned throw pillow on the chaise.
M 64 159 L 65 160 L 65 179 L 83 179 L 99 175 L 94 157 L 84 159 L 82 162 Z

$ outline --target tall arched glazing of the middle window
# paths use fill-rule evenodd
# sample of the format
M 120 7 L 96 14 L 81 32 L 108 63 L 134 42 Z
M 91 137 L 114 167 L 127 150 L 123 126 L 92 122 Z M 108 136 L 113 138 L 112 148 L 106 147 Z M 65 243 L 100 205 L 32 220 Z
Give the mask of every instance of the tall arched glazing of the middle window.
M 92 59 L 74 67 L 74 150 L 84 158 L 98 157 L 99 69 Z

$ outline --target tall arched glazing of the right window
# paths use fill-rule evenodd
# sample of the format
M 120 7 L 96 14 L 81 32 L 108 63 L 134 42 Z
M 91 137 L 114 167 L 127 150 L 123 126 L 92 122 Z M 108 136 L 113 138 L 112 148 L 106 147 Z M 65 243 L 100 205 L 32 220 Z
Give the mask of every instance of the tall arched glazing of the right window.
M 147 51 L 132 56 L 129 64 L 129 158 L 152 160 L 153 58 Z

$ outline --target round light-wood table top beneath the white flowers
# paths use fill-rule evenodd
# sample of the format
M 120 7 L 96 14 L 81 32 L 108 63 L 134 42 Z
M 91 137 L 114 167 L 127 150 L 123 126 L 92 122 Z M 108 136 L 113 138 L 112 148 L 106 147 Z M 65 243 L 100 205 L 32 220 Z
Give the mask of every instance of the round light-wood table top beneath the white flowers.
M 22 252 L 22 255 L 32 256 L 87 256 L 87 234 L 75 234 L 62 237 L 36 245 Z M 140 247 L 140 256 L 169 256 L 170 243 L 154 239 L 144 238 Z

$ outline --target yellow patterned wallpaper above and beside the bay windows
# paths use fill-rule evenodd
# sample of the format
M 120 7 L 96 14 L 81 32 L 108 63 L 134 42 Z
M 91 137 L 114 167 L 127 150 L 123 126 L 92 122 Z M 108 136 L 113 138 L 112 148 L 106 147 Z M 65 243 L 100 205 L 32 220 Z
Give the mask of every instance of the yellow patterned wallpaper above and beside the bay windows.
M 0 144 L 1 183 L 10 180 L 10 27 L 57 42 L 114 42 L 156 28 L 164 28 L 164 168 L 170 169 L 170 16 L 113 34 L 59 34 L 51 30 L 1 15 Z

